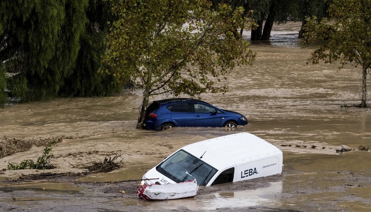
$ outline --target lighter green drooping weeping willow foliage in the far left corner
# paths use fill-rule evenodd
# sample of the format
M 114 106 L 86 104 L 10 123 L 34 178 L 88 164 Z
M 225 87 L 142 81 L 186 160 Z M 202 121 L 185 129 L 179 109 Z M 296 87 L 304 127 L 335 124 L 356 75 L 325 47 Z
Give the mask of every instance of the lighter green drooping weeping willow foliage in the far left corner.
M 0 3 L 0 61 L 14 74 L 13 95 L 24 101 L 57 95 L 80 49 L 87 6 L 88 0 Z

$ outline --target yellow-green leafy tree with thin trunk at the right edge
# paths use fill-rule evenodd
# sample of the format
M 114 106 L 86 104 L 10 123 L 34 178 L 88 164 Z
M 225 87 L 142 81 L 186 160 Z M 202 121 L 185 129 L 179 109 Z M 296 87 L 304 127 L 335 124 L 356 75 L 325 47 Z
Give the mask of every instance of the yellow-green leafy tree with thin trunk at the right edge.
M 352 9 L 350 9 L 352 8 Z M 371 67 L 371 1 L 334 0 L 329 7 L 330 19 L 320 23 L 316 17 L 308 18 L 304 34 L 305 44 L 324 40 L 308 62 L 332 63 L 339 68 L 350 63 L 362 66 L 362 98 L 359 107 L 366 108 L 366 77 Z

